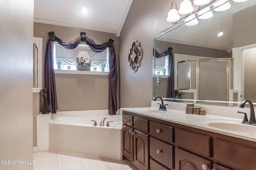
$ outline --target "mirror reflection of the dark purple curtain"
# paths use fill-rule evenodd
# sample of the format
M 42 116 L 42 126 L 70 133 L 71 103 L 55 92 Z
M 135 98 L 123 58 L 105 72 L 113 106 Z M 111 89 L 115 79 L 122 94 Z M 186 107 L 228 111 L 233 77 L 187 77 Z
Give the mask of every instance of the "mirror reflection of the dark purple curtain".
M 169 47 L 167 51 L 159 53 L 156 50 L 156 57 L 161 58 L 169 56 L 169 77 L 168 77 L 168 88 L 167 88 L 167 98 L 174 98 L 174 58 L 172 55 L 172 47 Z

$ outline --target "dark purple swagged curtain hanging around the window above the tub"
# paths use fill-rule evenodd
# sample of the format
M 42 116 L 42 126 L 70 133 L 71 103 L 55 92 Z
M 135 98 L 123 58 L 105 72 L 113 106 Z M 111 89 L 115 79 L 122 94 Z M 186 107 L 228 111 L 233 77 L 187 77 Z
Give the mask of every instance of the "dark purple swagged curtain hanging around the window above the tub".
M 56 96 L 56 85 L 54 77 L 54 59 L 53 59 L 53 42 L 57 41 L 60 45 L 74 49 L 78 46 L 80 41 L 86 41 L 89 47 L 96 53 L 101 53 L 109 47 L 109 100 L 108 110 L 110 115 L 115 115 L 117 111 L 117 68 L 116 68 L 116 53 L 114 50 L 114 40 L 109 39 L 107 43 L 96 44 L 92 39 L 81 33 L 80 37 L 74 39 L 69 43 L 65 43 L 54 35 L 54 32 L 49 32 L 49 40 L 46 46 L 45 65 L 44 65 L 44 86 L 47 89 L 47 111 L 56 113 L 58 109 L 58 102 Z

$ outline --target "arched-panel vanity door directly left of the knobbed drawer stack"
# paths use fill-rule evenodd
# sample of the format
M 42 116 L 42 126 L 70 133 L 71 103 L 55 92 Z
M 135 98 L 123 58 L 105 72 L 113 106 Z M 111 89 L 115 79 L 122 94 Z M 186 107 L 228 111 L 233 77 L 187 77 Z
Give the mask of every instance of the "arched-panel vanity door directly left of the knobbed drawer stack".
M 134 165 L 148 170 L 148 135 L 134 129 Z

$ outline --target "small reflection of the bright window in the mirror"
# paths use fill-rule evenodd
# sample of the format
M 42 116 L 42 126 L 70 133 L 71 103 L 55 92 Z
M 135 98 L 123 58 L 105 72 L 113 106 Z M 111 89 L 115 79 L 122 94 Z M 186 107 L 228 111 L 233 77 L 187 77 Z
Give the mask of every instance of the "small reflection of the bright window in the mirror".
M 156 58 L 155 61 L 155 74 L 169 76 L 169 56 Z

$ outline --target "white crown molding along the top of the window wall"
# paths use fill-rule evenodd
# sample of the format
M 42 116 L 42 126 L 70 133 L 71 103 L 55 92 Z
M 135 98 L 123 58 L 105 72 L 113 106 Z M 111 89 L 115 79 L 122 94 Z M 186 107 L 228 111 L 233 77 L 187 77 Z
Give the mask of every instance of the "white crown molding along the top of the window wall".
M 60 22 L 60 21 L 54 21 L 54 20 L 45 20 L 45 19 L 41 19 L 41 18 L 34 18 L 34 22 L 46 23 L 46 24 L 51 24 L 51 25 L 59 25 L 59 26 L 63 26 L 63 27 L 88 29 L 88 30 L 106 32 L 106 33 L 114 33 L 114 34 L 116 34 L 117 37 L 120 36 L 120 35 L 119 36 L 117 35 L 117 30 L 114 30 L 114 29 L 105 29 L 105 28 L 100 28 L 100 27 L 90 27 L 90 26 L 86 26 L 86 25 L 78 25 L 78 24 L 74 24 L 74 23 L 66 23 L 66 22 Z

